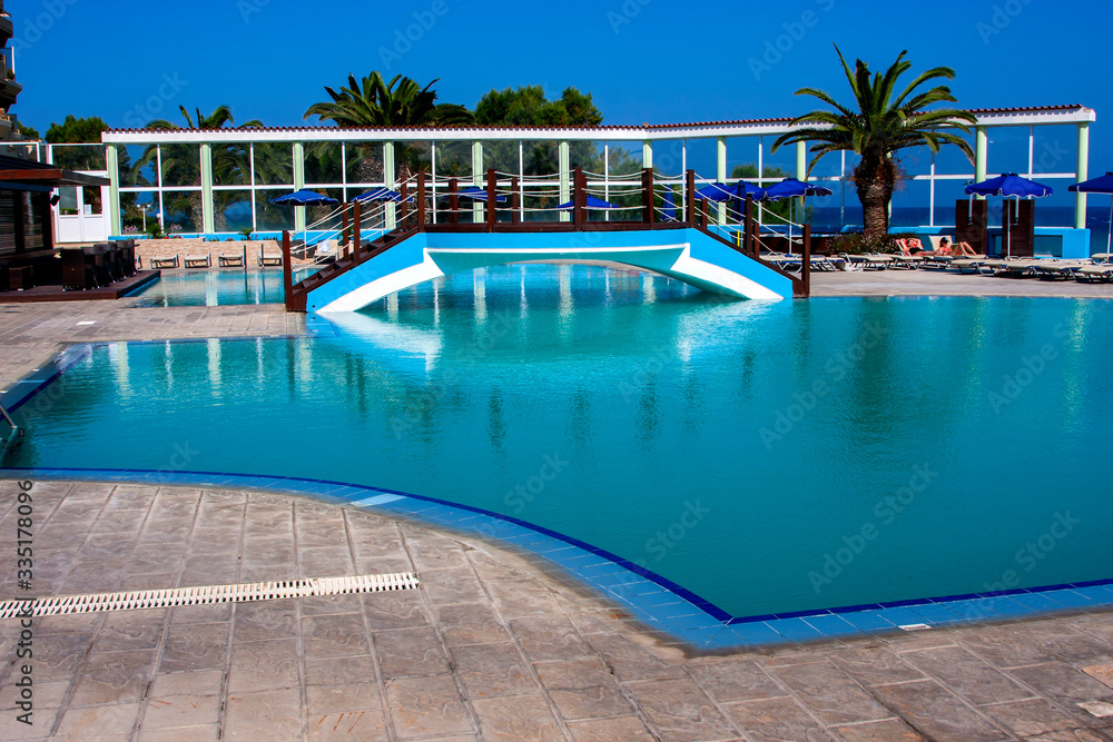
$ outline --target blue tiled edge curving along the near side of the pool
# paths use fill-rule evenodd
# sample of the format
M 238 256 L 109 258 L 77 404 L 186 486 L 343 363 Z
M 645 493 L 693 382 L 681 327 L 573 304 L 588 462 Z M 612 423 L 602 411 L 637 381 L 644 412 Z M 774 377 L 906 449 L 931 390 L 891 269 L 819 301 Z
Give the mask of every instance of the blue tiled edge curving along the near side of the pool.
M 647 627 L 705 650 L 849 639 L 897 632 L 909 625 L 943 627 L 1113 607 L 1111 578 L 998 593 L 732 616 L 667 577 L 572 536 L 513 516 L 424 495 L 327 479 L 219 472 L 0 466 L 0 476 L 269 491 L 327 498 L 370 512 L 406 517 L 529 552 L 629 610 Z

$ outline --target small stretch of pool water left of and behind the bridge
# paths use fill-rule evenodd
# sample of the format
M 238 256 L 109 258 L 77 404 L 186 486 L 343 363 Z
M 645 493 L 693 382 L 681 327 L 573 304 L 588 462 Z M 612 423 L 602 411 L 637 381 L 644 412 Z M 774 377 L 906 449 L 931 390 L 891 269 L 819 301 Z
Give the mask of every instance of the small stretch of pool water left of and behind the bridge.
M 294 271 L 294 280 L 309 271 Z M 215 307 L 230 304 L 282 304 L 282 269 L 198 270 L 164 273 L 141 291 L 137 306 Z

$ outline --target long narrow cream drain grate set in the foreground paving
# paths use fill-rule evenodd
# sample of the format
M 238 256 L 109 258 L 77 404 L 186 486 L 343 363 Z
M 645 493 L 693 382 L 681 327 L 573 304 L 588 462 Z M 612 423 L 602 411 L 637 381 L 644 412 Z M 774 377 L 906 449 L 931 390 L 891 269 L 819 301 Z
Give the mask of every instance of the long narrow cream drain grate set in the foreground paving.
M 2 601 L 0 602 L 0 619 L 26 616 L 28 605 L 31 606 L 32 616 L 56 616 L 69 613 L 97 613 L 98 611 L 135 611 L 179 605 L 277 601 L 284 597 L 309 597 L 313 595 L 381 593 L 393 590 L 415 590 L 420 585 L 421 580 L 416 573 L 398 572 L 368 574 L 358 577 L 276 580 L 239 585 L 137 590 L 127 593 L 92 595 L 58 595 L 56 597 L 36 597 L 29 601 Z

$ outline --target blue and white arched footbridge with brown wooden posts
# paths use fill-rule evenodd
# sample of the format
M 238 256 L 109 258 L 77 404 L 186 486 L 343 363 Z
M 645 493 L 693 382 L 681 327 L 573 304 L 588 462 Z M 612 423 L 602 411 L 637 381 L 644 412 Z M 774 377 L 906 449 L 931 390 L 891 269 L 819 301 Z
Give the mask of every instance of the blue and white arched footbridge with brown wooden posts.
M 615 207 L 634 211 L 637 220 L 592 220 L 601 202 L 587 188 L 583 175 L 572 178 L 572 200 L 562 207 L 562 221 L 520 221 L 516 179 L 501 184 L 489 171 L 485 188 L 457 191 L 450 180 L 442 191 L 446 208 L 429 199 L 424 172 L 404 184 L 401 198 L 390 204 L 396 227 L 362 243 L 364 214 L 358 201 L 345 205 L 341 244 L 347 249 L 335 261 L 299 284 L 290 276 L 289 236 L 284 235 L 286 308 L 290 311 L 356 311 L 374 301 L 441 277 L 475 268 L 522 261 L 612 261 L 677 278 L 697 288 L 727 296 L 776 300 L 809 293 L 810 233 L 800 243 L 800 273 L 786 273 L 759 257 L 754 205 L 739 200 L 740 224 L 719 226 L 725 206 L 699 197 L 695 174 L 680 188 L 660 187 L 652 172 L 629 189 L 640 205 Z M 410 189 L 410 185 L 415 186 Z M 680 208 L 676 202 L 679 200 Z M 471 201 L 460 208 L 461 201 Z M 493 208 L 487 205 L 493 205 Z M 347 210 L 351 207 L 351 212 Z M 429 214 L 433 210 L 434 214 Z M 466 215 L 463 221 L 460 215 Z M 609 216 L 609 215 L 608 215 Z M 437 217 L 440 217 L 437 219 Z

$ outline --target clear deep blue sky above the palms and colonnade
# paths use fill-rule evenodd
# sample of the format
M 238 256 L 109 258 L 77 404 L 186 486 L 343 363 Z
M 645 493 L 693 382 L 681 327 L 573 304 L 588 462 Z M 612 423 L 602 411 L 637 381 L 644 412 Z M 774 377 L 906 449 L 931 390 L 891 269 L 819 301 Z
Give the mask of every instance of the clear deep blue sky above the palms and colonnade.
M 873 69 L 905 48 L 914 70 L 953 67 L 963 107 L 1094 108 L 1091 172 L 1113 170 L 1109 0 L 6 4 L 24 86 L 14 111 L 40 132 L 67 113 L 117 127 L 177 120 L 179 103 L 205 112 L 228 103 L 240 121 L 295 125 L 323 86 L 374 69 L 441 78 L 441 99 L 467 106 L 492 88 L 541 85 L 556 96 L 575 86 L 593 93 L 607 123 L 791 116 L 812 107 L 792 96 L 799 87 L 848 97 L 836 42 Z M 400 41 L 407 31 L 416 40 Z

